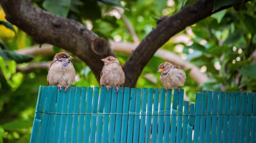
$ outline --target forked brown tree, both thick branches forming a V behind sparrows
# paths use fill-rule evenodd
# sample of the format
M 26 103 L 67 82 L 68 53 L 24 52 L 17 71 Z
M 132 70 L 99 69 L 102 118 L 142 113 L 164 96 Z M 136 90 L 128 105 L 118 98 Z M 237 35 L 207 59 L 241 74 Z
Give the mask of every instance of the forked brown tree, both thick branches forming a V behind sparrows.
M 97 37 L 82 24 L 43 11 L 30 0 L 0 0 L 6 19 L 18 26 L 38 43 L 50 43 L 72 52 L 84 61 L 97 80 L 103 63 L 101 58 L 115 56 L 106 40 Z M 124 65 L 125 87 L 135 87 L 142 70 L 154 53 L 173 35 L 186 26 L 230 6 L 213 11 L 213 0 L 198 0 L 185 6 L 171 17 L 166 17 L 141 41 Z M 93 48 L 92 48 L 93 47 Z

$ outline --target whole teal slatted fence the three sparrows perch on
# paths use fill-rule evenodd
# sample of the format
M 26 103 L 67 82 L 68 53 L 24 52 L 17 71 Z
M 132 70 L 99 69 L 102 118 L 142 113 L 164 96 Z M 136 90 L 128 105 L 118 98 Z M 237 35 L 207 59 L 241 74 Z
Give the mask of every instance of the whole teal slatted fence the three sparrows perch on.
M 256 93 L 202 91 L 195 104 L 183 95 L 40 86 L 30 142 L 256 143 Z

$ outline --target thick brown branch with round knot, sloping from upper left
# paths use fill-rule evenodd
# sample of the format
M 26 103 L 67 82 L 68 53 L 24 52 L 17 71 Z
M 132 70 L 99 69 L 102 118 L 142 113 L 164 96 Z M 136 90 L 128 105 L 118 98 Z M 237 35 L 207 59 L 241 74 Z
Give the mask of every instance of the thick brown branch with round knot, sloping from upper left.
M 0 0 L 0 4 L 9 22 L 37 43 L 50 43 L 72 52 L 90 67 L 97 80 L 103 67 L 100 59 L 115 56 L 105 39 L 74 20 L 43 11 L 30 0 Z

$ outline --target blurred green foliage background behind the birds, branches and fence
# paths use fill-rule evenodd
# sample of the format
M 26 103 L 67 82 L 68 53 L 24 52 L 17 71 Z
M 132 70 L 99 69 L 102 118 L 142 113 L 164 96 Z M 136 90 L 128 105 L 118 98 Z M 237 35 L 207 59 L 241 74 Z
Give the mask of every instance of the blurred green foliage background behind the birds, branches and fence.
M 32 1 L 45 11 L 76 20 L 104 37 L 124 65 L 160 17 L 171 16 L 196 0 Z M 187 74 L 182 87 L 185 100 L 194 102 L 195 93 L 206 89 L 255 92 L 255 4 L 251 1 L 240 9 L 222 10 L 172 37 L 146 65 L 136 87 L 162 88 L 157 67 L 170 61 Z M 0 6 L 0 21 L 6 21 L 4 17 Z M 13 27 L 15 32 L 0 25 L 0 143 L 27 143 L 39 85 L 47 86 L 49 64 L 62 49 L 49 44 L 39 48 L 29 35 Z M 79 58 L 72 63 L 76 69 L 72 86 L 99 86 L 85 63 Z

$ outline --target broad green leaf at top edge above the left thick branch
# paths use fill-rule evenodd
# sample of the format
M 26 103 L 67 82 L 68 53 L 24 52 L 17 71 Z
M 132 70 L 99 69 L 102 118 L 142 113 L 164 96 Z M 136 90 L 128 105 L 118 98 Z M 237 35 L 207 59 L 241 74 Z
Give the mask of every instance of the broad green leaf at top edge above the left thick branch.
M 67 17 L 70 6 L 71 0 L 45 0 L 43 2 L 44 9 L 61 17 Z

